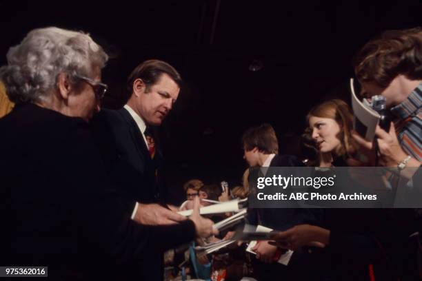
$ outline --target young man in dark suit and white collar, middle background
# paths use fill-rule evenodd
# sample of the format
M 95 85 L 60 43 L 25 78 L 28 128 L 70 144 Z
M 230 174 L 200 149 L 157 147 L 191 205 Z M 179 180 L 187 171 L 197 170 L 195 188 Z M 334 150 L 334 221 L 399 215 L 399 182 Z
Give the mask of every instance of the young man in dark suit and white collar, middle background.
M 290 155 L 278 155 L 279 143 L 274 129 L 269 124 L 262 124 L 251 127 L 243 134 L 243 158 L 250 165 L 250 180 L 254 180 L 257 175 L 270 176 L 273 171 L 261 169 L 261 167 L 298 167 L 303 164 Z M 263 174 L 266 173 L 266 174 Z M 254 192 L 251 191 L 251 196 Z M 252 200 L 250 200 L 252 202 Z M 251 225 L 262 225 L 274 230 L 289 229 L 294 225 L 303 223 L 317 224 L 319 220 L 318 212 L 310 209 L 298 208 L 248 208 L 248 223 Z M 277 247 L 268 241 L 260 241 L 252 249 L 257 253 L 259 261 L 254 262 L 254 272 L 259 280 L 283 280 L 285 278 L 295 278 L 294 280 L 305 280 L 305 271 L 296 270 L 296 266 L 308 265 L 308 254 L 303 249 L 298 249 L 292 256 L 288 267 L 278 264 L 274 260 Z M 290 270 L 289 270 L 290 269 Z

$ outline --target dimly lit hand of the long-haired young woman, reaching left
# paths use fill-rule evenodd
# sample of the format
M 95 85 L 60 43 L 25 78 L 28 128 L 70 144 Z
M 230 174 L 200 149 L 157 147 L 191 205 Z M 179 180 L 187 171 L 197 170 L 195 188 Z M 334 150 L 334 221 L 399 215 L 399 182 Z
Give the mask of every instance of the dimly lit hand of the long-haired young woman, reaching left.
M 277 246 L 296 250 L 303 246 L 325 247 L 330 242 L 330 230 L 314 225 L 297 225 L 282 232 L 274 232 L 271 237 Z

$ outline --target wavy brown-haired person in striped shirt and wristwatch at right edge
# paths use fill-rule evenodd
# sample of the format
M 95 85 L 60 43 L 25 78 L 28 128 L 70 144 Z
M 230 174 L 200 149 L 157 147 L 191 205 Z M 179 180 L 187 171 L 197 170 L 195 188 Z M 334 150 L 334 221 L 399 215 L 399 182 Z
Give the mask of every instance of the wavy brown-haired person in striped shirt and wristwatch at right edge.
M 422 161 L 422 28 L 389 30 L 381 37 L 366 43 L 354 60 L 354 72 L 361 83 L 361 95 L 371 98 L 385 96 L 394 124 L 385 132 L 376 128 L 378 152 L 373 143 L 353 134 L 360 145 L 360 152 L 373 158 L 379 153 L 379 163 L 360 163 L 352 160 L 350 165 L 382 165 L 396 167 L 401 176 L 412 179 L 414 198 L 421 198 Z M 410 167 L 410 169 L 405 169 Z M 416 172 L 416 174 L 415 174 Z M 420 205 L 420 201 L 416 201 Z M 407 214 L 405 216 L 408 216 Z M 422 278 L 422 209 L 414 210 L 412 222 L 419 230 L 419 242 L 412 241 L 413 253 L 418 260 L 414 271 Z M 413 226 L 409 226 L 413 229 Z M 410 230 L 412 232 L 413 230 Z M 412 236 L 416 239 L 418 236 Z M 408 267 L 408 265 L 406 266 Z M 416 267 L 419 267 L 416 268 Z

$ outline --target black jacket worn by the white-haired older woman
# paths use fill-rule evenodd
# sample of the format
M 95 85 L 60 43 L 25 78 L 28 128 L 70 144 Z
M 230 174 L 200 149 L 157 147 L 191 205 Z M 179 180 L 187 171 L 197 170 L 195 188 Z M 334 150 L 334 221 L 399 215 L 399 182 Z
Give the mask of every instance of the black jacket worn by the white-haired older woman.
M 191 221 L 130 219 L 81 118 L 19 105 L 0 132 L 0 264 L 48 266 L 53 280 L 108 280 L 194 238 Z

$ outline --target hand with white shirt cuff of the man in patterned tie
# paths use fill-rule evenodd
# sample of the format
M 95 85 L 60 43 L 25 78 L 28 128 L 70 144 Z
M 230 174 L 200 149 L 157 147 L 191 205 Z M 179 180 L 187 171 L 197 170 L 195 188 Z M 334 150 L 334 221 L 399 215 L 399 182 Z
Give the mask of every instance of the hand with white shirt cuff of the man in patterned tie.
M 139 203 L 137 214 L 135 214 L 133 220 L 142 225 L 172 225 L 185 219 L 184 216 L 158 204 Z

